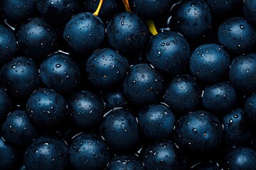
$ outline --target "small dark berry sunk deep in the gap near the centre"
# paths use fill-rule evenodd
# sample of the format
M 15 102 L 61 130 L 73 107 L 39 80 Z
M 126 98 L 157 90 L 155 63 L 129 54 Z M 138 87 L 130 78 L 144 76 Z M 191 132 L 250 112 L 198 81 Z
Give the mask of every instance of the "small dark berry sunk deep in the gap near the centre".
M 101 91 L 102 101 L 105 103 L 105 108 L 124 108 L 127 106 L 127 98 L 122 90 Z

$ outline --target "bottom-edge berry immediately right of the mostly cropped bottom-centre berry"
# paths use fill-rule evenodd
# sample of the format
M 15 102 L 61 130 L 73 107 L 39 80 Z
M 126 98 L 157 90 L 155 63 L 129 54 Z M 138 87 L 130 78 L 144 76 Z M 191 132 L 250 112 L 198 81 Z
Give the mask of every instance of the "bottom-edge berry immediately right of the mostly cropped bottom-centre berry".
M 166 167 L 174 170 L 185 170 L 186 159 L 174 142 L 168 140 L 146 147 L 143 162 L 146 169 L 164 170 Z

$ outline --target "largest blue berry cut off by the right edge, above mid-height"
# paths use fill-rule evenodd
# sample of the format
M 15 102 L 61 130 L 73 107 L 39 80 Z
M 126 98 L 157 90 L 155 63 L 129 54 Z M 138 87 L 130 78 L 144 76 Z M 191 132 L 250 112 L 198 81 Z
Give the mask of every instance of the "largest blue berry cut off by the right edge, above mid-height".
M 235 57 L 230 64 L 230 83 L 242 93 L 256 92 L 256 54 Z

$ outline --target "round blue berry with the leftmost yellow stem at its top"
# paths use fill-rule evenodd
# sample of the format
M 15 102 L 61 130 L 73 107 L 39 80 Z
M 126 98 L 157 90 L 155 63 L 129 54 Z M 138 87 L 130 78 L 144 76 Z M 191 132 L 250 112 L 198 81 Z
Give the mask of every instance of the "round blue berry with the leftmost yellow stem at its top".
M 63 38 L 73 51 L 90 54 L 102 45 L 105 26 L 102 20 L 92 13 L 80 12 L 66 23 Z

